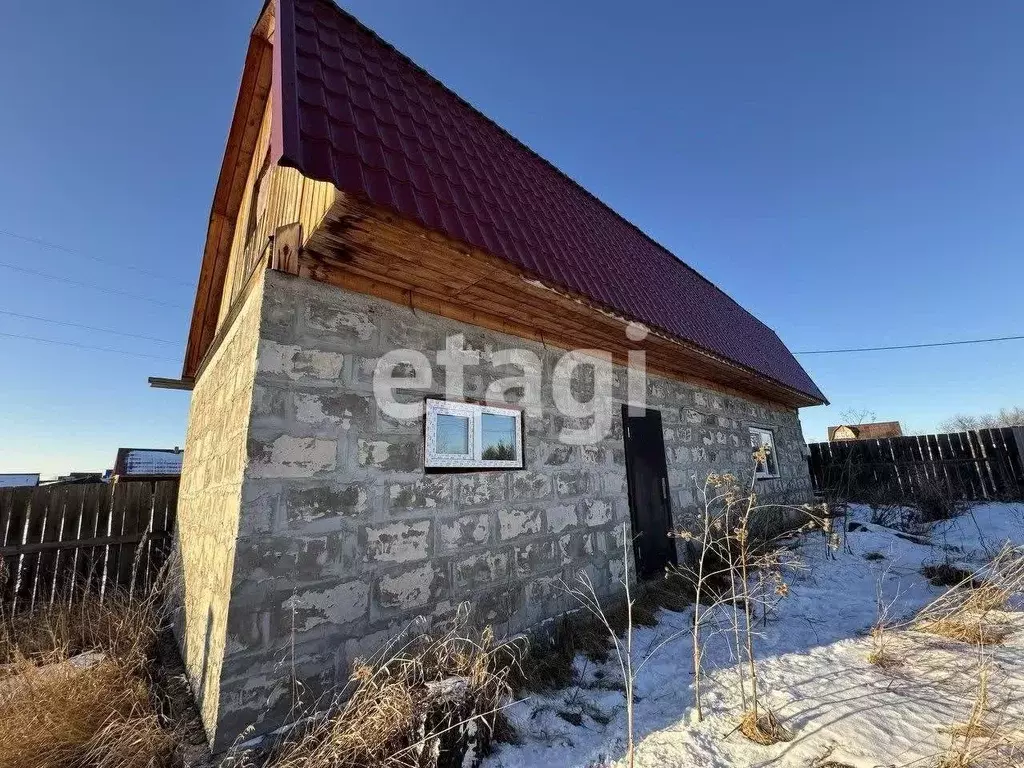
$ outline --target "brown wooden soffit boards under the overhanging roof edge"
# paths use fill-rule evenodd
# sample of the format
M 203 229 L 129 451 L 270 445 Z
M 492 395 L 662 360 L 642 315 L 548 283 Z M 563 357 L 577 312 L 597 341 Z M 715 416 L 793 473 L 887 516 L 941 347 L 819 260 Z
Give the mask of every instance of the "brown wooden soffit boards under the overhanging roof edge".
M 631 349 L 644 349 L 652 373 L 760 402 L 818 404 L 667 334 L 630 341 L 628 318 L 344 193 L 309 233 L 299 274 L 563 349 L 606 350 L 621 365 Z

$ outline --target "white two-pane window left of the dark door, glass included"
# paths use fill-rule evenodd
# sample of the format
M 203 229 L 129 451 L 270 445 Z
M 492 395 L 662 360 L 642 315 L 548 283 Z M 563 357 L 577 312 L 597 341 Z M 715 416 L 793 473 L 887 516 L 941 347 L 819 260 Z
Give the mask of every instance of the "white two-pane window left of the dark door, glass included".
M 426 467 L 522 469 L 522 412 L 427 399 Z

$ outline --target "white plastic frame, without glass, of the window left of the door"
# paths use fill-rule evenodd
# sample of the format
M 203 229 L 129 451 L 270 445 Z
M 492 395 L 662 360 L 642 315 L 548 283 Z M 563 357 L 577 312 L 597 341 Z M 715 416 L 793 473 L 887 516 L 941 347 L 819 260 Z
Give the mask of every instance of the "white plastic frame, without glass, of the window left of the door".
M 483 402 L 467 400 L 444 400 L 427 397 L 423 420 L 423 465 L 427 471 L 437 470 L 494 470 L 523 469 L 526 466 L 523 455 L 522 409 L 499 408 Z M 483 416 L 511 417 L 515 428 L 515 459 L 483 459 L 482 431 Z M 469 455 L 438 454 L 436 451 L 437 417 L 456 416 L 469 419 Z

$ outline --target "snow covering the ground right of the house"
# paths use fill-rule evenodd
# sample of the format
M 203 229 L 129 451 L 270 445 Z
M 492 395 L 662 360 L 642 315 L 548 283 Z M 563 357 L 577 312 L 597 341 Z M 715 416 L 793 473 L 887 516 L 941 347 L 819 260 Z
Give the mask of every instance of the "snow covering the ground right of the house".
M 905 663 L 886 672 L 867 663 L 869 631 L 881 602 L 907 617 L 943 592 L 920 570 L 950 557 L 975 566 L 1009 540 L 1024 544 L 1024 505 L 985 504 L 935 526 L 932 545 L 872 525 L 831 553 L 820 535 L 796 545 L 800 568 L 786 569 L 788 596 L 761 629 L 756 648 L 764 700 L 795 738 L 759 746 L 735 728 L 740 706 L 734 658 L 724 636 L 706 641 L 705 720 L 693 708 L 692 608 L 662 611 L 657 627 L 634 632 L 635 664 L 665 643 L 636 678 L 636 764 L 650 768 L 815 766 L 831 760 L 854 768 L 934 765 L 948 744 L 943 732 L 970 712 L 977 686 L 977 649 L 915 633 L 896 638 Z M 865 555 L 869 557 L 865 557 Z M 881 558 L 878 558 L 881 555 Z M 835 558 L 835 559 L 834 559 Z M 869 559 L 870 558 L 870 559 Z M 1024 723 L 1024 606 L 998 614 L 1015 630 L 992 647 L 993 696 L 1016 688 L 1010 714 Z M 668 641 L 668 642 L 666 642 Z M 534 695 L 508 713 L 522 739 L 502 745 L 488 768 L 601 766 L 625 755 L 622 675 L 613 656 L 603 664 L 577 658 L 581 683 Z M 574 725 L 573 722 L 579 722 Z M 918 761 L 918 762 L 915 762 Z

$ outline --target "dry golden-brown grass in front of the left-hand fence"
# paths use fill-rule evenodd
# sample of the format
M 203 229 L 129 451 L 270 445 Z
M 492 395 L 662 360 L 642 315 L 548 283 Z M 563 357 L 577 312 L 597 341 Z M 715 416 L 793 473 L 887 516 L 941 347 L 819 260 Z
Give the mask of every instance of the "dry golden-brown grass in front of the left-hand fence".
M 162 768 L 175 739 L 154 711 L 145 666 L 158 611 L 112 596 L 0 623 L 5 768 Z M 90 652 L 86 664 L 82 653 Z

